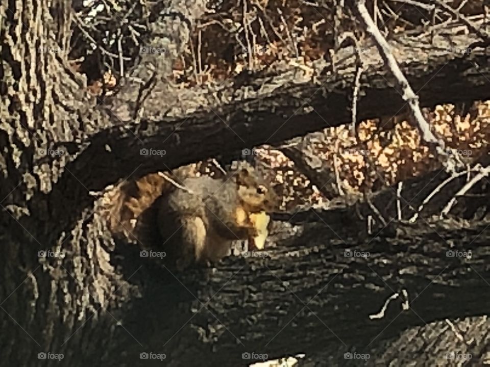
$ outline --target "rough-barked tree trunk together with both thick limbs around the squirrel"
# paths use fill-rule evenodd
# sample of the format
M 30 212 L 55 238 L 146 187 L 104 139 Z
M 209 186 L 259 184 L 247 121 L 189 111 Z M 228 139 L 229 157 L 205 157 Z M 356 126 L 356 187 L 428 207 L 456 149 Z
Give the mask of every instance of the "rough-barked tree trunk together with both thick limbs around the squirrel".
M 155 27 L 173 45 L 171 56 L 187 42 L 205 5 L 168 2 L 168 16 Z M 366 261 L 344 257 L 355 240 L 324 241 L 325 226 L 308 225 L 295 241 L 280 242 L 270 258 L 229 258 L 217 269 L 177 276 L 144 261 L 135 247 L 116 244 L 91 191 L 129 175 L 349 122 L 355 58 L 337 62 L 335 73 L 324 61 L 312 70 L 283 65 L 278 72 L 193 90 L 177 90 L 153 75 L 152 95 L 137 112 L 139 86 L 128 82 L 97 104 L 66 54 L 38 51 L 68 49 L 70 8 L 69 2 L 45 0 L 0 5 L 1 361 L 60 365 L 38 359 L 51 352 L 62 353 L 62 365 L 72 367 L 161 365 L 142 363 L 140 353 L 151 351 L 165 353 L 171 366 L 242 365 L 244 351 L 314 356 L 325 349 L 338 353 L 333 346 L 339 340 L 367 349 L 379 333 L 377 341 L 388 340 L 407 327 L 412 334 L 400 342 L 437 343 L 434 335 L 451 336 L 444 323 L 433 324 L 435 334 L 426 336 L 423 321 L 487 312 L 488 293 L 481 290 L 488 286 L 488 233 L 478 236 L 479 228 L 439 232 L 444 240 L 430 233 L 394 243 L 374 239 L 358 247 L 371 252 Z M 470 35 L 452 40 L 461 48 L 476 41 Z M 443 40 L 443 49 L 430 45 L 430 53 L 423 39 L 405 41 L 396 48 L 408 60 L 402 69 L 423 105 L 488 96 L 484 48 L 461 56 Z M 367 46 L 363 57 L 372 69 L 361 78 L 359 120 L 402 107 L 375 47 Z M 171 61 L 160 65 L 163 75 Z M 151 75 L 144 67 L 137 72 Z M 166 155 L 139 154 L 150 147 Z M 471 248 L 473 258 L 446 257 L 450 240 L 455 249 Z M 413 312 L 396 318 L 395 300 L 384 319 L 369 319 L 402 288 Z M 480 333 L 486 320 L 479 320 L 468 337 L 486 346 L 487 334 Z M 394 355 L 394 346 L 377 344 L 380 360 L 408 360 L 412 351 L 421 360 L 436 358 L 424 354 L 426 345 L 413 344 L 402 356 Z

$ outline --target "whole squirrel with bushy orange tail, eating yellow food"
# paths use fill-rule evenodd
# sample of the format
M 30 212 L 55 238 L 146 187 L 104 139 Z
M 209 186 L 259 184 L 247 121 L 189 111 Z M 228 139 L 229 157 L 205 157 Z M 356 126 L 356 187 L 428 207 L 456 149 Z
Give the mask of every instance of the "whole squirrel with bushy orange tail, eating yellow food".
M 111 231 L 143 250 L 164 251 L 166 265 L 178 270 L 220 260 L 236 240 L 262 249 L 277 204 L 271 185 L 245 162 L 223 178 L 195 171 L 184 166 L 171 177 L 155 173 L 123 186 L 125 195 L 110 200 Z

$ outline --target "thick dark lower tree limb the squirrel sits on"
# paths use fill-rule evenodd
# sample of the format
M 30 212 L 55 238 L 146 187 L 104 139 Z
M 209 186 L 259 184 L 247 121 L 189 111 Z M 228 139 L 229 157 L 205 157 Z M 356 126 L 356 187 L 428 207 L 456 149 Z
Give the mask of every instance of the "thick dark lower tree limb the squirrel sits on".
M 175 274 L 178 280 L 145 262 L 139 250 L 128 249 L 122 269 L 127 277 L 140 269 L 130 282 L 139 284 L 142 299 L 131 297 L 129 308 L 109 309 L 124 328 L 101 309 L 96 324 L 58 334 L 59 342 L 50 348 L 65 353 L 64 362 L 74 367 L 96 361 L 137 365 L 139 354 L 150 351 L 165 353 L 169 366 L 241 365 L 243 352 L 269 358 L 309 355 L 331 344 L 367 352 L 371 342 L 378 345 L 410 326 L 488 312 L 489 293 L 482 292 L 489 286 L 484 227 L 457 232 L 413 227 L 407 237 L 377 238 L 369 245 L 347 236 L 335 240 L 323 222 L 306 228 L 294 243 L 268 251 L 268 258 L 228 258 L 218 271 Z M 452 245 L 458 254 L 471 251 L 471 258 L 448 257 Z M 346 251 L 370 255 L 346 257 Z M 395 299 L 384 317 L 370 319 L 402 290 L 409 310 L 402 309 L 403 299 Z M 3 307 L 12 311 L 13 304 L 7 301 Z M 9 334 L 23 333 L 6 322 Z M 37 327 L 28 325 L 26 331 L 38 335 Z M 94 348 L 100 345 L 104 348 Z M 9 360 L 17 359 L 11 355 Z

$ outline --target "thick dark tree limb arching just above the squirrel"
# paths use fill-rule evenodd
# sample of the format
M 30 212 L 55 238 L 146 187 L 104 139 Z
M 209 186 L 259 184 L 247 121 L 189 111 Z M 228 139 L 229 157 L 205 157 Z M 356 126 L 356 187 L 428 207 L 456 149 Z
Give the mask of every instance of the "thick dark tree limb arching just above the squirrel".
M 460 38 L 458 44 L 468 47 L 471 40 Z M 471 55 L 461 57 L 448 51 L 424 54 L 421 52 L 423 49 L 417 40 L 416 43 L 400 45 L 396 50 L 396 54 L 407 55 L 411 60 L 404 67 L 404 72 L 413 89 L 419 91 L 423 106 L 486 98 L 490 91 L 487 83 L 490 71 L 486 67 L 483 50 L 474 50 Z M 371 58 L 371 67 L 375 67 L 376 72 L 366 75 L 361 83 L 363 95 L 359 101 L 358 121 L 378 117 L 380 111 L 396 114 L 403 107 L 403 100 L 391 88 L 388 82 L 391 77 L 383 70 L 382 60 L 374 46 L 366 49 L 365 57 Z M 151 120 L 143 118 L 135 125 L 127 116 L 128 122 L 121 125 L 116 119 L 112 122 L 113 127 L 90 138 L 90 147 L 79 156 L 79 162 L 69 165 L 70 171 L 90 190 L 100 190 L 114 181 L 110 171 L 117 171 L 119 177 L 121 174 L 129 175 L 141 164 L 138 174 L 142 175 L 218 152 L 227 154 L 243 147 L 277 143 L 322 127 L 348 123 L 351 117 L 350 87 L 355 78 L 353 66 L 354 58 L 351 58 L 351 63 L 345 64 L 337 75 L 318 76 L 315 81 L 289 69 L 279 75 L 257 75 L 253 84 L 240 89 L 235 89 L 231 82 L 224 83 L 220 93 L 227 97 L 219 104 L 211 101 L 215 93 L 212 90 L 202 91 L 204 99 L 199 102 L 195 102 L 197 91 L 181 91 L 179 98 L 186 102 L 181 104 L 180 111 L 169 112 L 167 117 L 162 116 L 162 111 L 165 111 L 166 104 L 177 104 L 173 99 L 176 91 L 157 87 L 147 100 L 145 114 L 153 116 Z M 327 67 L 327 64 L 319 63 L 317 70 L 326 71 Z M 253 86 L 255 90 L 251 89 Z M 197 109 L 198 103 L 207 107 L 185 114 L 185 111 Z M 111 152 L 106 151 L 106 144 Z M 141 157 L 139 150 L 143 148 L 164 149 L 166 155 L 163 158 Z M 93 162 L 94 156 L 105 158 Z M 81 168 L 86 160 L 95 163 L 94 174 L 89 177 Z M 114 167 L 117 162 L 121 163 Z

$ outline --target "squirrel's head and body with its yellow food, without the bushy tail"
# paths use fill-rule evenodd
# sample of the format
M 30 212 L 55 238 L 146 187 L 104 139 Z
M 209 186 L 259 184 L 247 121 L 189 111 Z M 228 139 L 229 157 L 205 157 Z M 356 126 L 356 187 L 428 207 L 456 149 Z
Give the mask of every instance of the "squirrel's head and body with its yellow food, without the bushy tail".
M 160 199 L 158 227 L 178 269 L 222 259 L 236 240 L 263 248 L 276 197 L 248 164 L 224 179 L 189 177 Z

